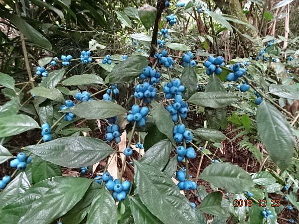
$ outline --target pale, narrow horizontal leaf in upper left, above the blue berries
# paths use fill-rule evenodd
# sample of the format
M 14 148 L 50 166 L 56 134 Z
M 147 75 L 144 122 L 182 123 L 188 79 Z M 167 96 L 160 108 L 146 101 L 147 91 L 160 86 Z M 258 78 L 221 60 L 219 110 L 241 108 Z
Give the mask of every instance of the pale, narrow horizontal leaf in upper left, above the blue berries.
M 103 79 L 95 74 L 75 75 L 62 81 L 64 86 L 78 86 L 90 84 L 104 84 Z

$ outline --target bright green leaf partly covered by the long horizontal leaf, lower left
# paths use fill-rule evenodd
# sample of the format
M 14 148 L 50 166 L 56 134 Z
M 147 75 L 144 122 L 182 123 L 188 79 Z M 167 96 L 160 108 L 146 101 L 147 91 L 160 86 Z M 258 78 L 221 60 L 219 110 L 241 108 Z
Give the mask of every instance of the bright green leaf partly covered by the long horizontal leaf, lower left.
M 40 159 L 37 156 L 33 159 L 31 172 L 33 184 L 43 181 L 49 177 L 62 175 L 60 166 Z

